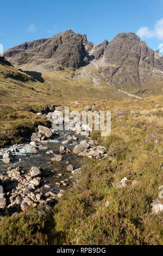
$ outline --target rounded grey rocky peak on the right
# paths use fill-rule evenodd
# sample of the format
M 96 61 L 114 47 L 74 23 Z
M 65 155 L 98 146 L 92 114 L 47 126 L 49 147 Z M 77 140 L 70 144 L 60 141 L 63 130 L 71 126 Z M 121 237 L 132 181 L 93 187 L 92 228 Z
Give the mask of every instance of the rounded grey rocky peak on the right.
M 106 47 L 104 58 L 109 66 L 103 72 L 114 86 L 148 83 L 153 68 L 162 71 L 163 58 L 156 59 L 155 52 L 134 33 L 118 34 Z

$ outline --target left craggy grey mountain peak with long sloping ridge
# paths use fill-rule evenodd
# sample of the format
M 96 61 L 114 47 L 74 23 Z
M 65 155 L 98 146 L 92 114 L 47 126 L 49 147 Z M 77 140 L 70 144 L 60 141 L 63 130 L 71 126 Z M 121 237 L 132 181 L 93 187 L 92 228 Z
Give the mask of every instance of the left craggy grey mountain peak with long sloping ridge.
M 35 63 L 46 69 L 79 68 L 85 57 L 83 36 L 68 30 L 48 39 L 25 42 L 6 51 L 15 65 Z

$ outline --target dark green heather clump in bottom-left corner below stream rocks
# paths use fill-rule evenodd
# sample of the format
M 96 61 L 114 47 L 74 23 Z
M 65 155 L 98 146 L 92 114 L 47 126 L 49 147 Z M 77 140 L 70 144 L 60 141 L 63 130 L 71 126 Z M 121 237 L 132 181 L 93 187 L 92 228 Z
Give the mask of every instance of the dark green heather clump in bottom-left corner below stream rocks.
M 52 237 L 53 226 L 52 212 L 45 214 L 30 209 L 15 217 L 5 217 L 0 223 L 0 244 L 47 245 Z

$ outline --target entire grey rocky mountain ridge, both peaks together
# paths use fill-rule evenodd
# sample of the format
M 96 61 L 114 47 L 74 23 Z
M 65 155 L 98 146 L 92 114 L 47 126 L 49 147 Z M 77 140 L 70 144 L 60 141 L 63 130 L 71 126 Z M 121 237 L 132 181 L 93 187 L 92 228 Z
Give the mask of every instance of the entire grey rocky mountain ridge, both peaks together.
M 52 38 L 25 42 L 5 51 L 4 56 L 15 65 L 34 64 L 57 71 L 96 62 L 105 82 L 126 91 L 134 86 L 135 94 L 145 92 L 143 85 L 151 78 L 161 82 L 161 87 L 163 83 L 163 57 L 134 33 L 121 33 L 110 42 L 93 45 L 85 34 L 68 30 Z

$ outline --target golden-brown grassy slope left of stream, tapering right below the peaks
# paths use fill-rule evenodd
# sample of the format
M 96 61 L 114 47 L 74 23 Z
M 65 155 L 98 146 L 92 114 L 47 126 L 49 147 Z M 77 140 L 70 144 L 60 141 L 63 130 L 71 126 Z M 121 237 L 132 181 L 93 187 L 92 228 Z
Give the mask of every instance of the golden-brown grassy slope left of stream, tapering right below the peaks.
M 128 97 L 108 85 L 106 88 L 103 81 L 101 86 L 95 87 L 90 84 L 91 80 L 74 80 L 74 71 L 70 69 L 26 73 L 0 62 L 0 145 L 20 143 L 38 124 L 46 123 L 33 113 L 46 105 L 70 106 L 76 100 Z

